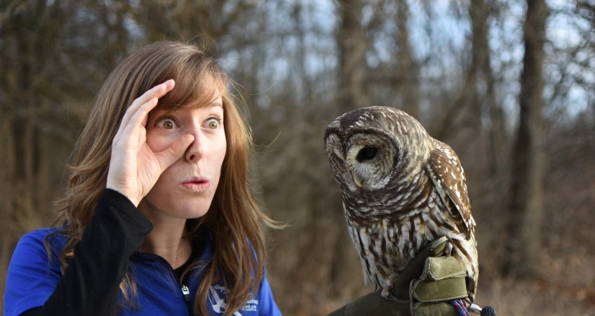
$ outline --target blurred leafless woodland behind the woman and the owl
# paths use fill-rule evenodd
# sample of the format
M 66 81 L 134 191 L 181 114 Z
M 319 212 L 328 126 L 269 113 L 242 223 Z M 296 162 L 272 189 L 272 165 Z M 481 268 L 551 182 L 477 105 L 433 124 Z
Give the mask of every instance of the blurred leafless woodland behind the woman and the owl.
M 50 225 L 93 96 L 134 46 L 203 43 L 243 87 L 255 192 L 285 315 L 370 291 L 323 129 L 399 107 L 467 172 L 498 315 L 595 313 L 594 0 L 0 0 L 0 294 L 21 235 Z M 0 301 L 0 310 L 1 310 Z

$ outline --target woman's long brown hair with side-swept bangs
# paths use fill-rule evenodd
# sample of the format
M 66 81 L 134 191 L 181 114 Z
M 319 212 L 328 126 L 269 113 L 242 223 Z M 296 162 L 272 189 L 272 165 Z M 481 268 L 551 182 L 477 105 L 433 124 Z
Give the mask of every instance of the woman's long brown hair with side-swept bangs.
M 203 268 L 203 279 L 194 301 L 194 311 L 206 315 L 211 284 L 222 281 L 229 291 L 225 315 L 232 315 L 258 289 L 264 276 L 265 242 L 260 223 L 276 226 L 260 210 L 248 187 L 248 159 L 253 151 L 250 129 L 241 109 L 229 93 L 232 82 L 198 46 L 159 41 L 133 51 L 109 75 L 95 98 L 71 158 L 67 191 L 58 200 L 54 225 L 67 237 L 60 254 L 62 270 L 74 256 L 74 246 L 93 216 L 95 204 L 105 190 L 112 139 L 129 105 L 153 86 L 167 79 L 175 88 L 159 100 L 157 107 L 174 110 L 189 103 L 208 104 L 221 96 L 227 151 L 220 183 L 209 211 L 199 220 L 188 220 L 192 239 L 205 230 L 215 244 L 213 258 Z M 149 114 L 150 116 L 150 114 Z M 135 297 L 133 275 L 121 282 L 124 303 Z

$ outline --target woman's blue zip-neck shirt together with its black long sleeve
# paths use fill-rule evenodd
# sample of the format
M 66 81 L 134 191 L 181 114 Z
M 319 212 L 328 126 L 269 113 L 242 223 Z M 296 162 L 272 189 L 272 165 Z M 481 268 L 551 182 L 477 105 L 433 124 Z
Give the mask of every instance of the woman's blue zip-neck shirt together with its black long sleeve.
M 58 228 L 29 232 L 20 239 L 8 265 L 4 315 L 41 307 L 57 315 L 114 315 L 116 305 L 123 301 L 119 284 L 126 273 L 137 286 L 137 296 L 119 315 L 189 315 L 201 269 L 192 270 L 187 284 L 179 284 L 165 259 L 137 251 L 151 230 L 152 224 L 129 199 L 107 189 L 64 273 L 58 258 L 67 238 L 53 234 Z M 205 237 L 199 260 L 206 263 L 213 257 L 214 242 L 207 232 Z M 211 284 L 206 306 L 210 315 L 223 315 L 226 296 L 223 284 Z M 239 315 L 281 315 L 266 275 L 253 296 L 234 313 Z

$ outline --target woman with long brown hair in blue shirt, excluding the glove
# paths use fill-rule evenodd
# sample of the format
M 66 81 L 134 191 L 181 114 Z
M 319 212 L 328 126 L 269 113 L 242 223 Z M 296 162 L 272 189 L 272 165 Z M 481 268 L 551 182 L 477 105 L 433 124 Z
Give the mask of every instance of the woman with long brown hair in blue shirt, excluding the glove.
M 22 237 L 5 315 L 280 315 L 251 139 L 215 60 L 160 41 L 109 75 L 53 228 Z

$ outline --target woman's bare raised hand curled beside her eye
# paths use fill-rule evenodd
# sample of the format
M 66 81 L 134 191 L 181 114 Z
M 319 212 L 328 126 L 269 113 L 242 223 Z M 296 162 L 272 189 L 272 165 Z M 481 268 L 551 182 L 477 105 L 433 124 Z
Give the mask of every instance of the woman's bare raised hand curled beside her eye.
M 107 188 L 125 195 L 136 206 L 161 173 L 180 159 L 194 140 L 192 135 L 182 136 L 161 152 L 153 152 L 147 145 L 148 114 L 174 85 L 170 79 L 136 98 L 126 110 L 112 142 Z

